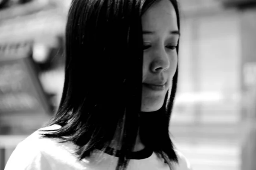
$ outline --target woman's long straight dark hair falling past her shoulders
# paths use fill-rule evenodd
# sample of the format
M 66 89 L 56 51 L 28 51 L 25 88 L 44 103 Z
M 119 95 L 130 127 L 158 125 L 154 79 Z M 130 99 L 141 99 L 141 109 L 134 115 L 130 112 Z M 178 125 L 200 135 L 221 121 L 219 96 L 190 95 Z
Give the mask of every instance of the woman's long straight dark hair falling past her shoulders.
M 126 169 L 125 153 L 134 147 L 138 129 L 146 147 L 171 168 L 177 156 L 169 120 L 177 87 L 160 110 L 142 113 L 143 38 L 141 17 L 160 0 L 73 0 L 66 27 L 65 82 L 61 102 L 48 125 L 61 125 L 43 137 L 73 142 L 79 159 L 105 151 L 119 129 L 121 154 L 116 170 Z M 177 14 L 176 0 L 170 0 Z M 178 51 L 178 47 L 177 47 Z M 152 128 L 154 127 L 154 128 Z M 150 132 L 150 133 L 149 133 Z M 121 134 L 122 133 L 122 134 Z M 63 138 L 68 136 L 68 138 Z

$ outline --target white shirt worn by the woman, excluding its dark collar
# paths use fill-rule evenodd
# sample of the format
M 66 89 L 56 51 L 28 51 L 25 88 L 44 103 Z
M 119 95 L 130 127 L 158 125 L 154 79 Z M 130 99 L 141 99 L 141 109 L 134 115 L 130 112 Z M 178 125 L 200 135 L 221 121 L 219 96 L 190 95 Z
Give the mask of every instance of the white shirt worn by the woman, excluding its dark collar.
M 52 125 L 43 129 L 56 129 Z M 102 151 L 93 153 L 89 159 L 79 161 L 71 142 L 59 143 L 56 139 L 40 138 L 37 130 L 20 142 L 4 170 L 115 170 L 118 158 Z M 179 164 L 172 170 L 191 170 L 186 158 L 177 150 Z M 99 155 L 102 153 L 102 155 Z M 99 159 L 101 158 L 101 159 Z M 158 159 L 155 153 L 145 159 L 131 159 L 127 170 L 169 170 L 169 166 Z

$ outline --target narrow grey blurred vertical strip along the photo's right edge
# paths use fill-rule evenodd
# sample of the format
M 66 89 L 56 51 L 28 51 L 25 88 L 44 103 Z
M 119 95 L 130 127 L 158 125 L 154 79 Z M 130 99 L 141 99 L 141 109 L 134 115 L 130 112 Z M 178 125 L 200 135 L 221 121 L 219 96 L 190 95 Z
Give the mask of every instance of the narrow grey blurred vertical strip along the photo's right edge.
M 243 83 L 242 170 L 256 170 L 256 6 L 240 15 Z

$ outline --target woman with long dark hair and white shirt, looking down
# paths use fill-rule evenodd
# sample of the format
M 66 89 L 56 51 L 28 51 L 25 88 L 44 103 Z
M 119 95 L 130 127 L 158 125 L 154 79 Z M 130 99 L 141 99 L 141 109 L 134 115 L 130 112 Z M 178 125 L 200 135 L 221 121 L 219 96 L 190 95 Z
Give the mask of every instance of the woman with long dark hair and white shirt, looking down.
M 176 0 L 73 0 L 58 112 L 6 170 L 189 170 L 168 130 L 179 35 Z

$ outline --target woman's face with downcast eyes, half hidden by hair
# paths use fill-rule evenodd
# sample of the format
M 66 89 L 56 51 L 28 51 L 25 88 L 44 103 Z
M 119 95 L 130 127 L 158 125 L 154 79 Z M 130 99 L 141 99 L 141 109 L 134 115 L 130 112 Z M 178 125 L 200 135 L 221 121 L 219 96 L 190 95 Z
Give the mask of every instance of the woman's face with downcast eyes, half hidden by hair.
M 143 28 L 143 112 L 163 106 L 177 68 L 179 39 L 177 16 L 170 0 L 151 6 L 142 17 Z

